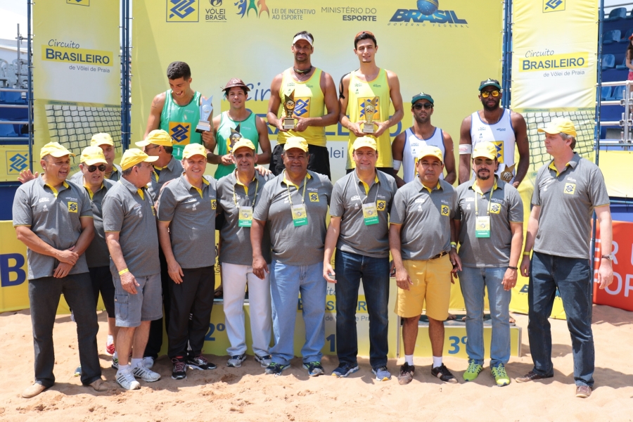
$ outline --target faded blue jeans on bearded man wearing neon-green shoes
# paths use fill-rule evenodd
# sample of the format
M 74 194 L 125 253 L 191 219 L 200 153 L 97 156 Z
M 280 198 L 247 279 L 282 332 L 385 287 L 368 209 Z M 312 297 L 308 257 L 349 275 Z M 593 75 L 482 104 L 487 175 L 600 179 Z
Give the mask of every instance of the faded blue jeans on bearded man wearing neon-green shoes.
M 468 362 L 483 365 L 483 314 L 484 288 L 488 290 L 488 304 L 492 319 L 490 366 L 507 364 L 510 360 L 510 298 L 511 290 L 501 283 L 506 274 L 502 268 L 463 267 L 459 273 L 459 286 L 466 304 L 466 353 Z

